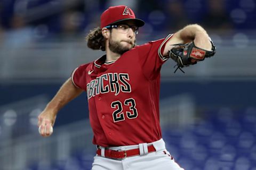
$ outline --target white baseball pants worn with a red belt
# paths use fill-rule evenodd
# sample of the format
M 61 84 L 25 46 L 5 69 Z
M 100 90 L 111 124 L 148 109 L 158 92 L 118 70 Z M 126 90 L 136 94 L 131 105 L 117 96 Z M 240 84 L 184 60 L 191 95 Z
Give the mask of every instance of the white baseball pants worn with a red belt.
M 123 147 L 109 147 L 107 149 L 112 150 L 129 150 L 140 148 L 140 156 L 127 157 L 122 160 L 105 158 L 96 155 L 92 164 L 92 170 L 184 170 L 171 157 L 170 153 L 165 149 L 165 142 L 163 139 L 153 143 L 147 143 L 147 145 L 153 145 L 156 149 L 155 152 L 145 153 L 141 146 L 123 146 Z M 102 150 L 105 148 L 101 147 Z M 141 153 L 143 152 L 143 153 Z

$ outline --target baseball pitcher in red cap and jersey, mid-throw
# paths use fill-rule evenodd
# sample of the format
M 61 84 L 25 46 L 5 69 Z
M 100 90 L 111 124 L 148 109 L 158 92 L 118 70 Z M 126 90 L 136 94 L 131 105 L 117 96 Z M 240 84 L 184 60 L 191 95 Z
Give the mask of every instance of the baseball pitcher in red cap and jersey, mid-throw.
M 38 116 L 39 133 L 47 137 L 58 111 L 87 93 L 93 144 L 93 170 L 182 169 L 165 148 L 159 124 L 161 66 L 169 58 L 177 68 L 215 54 L 206 31 L 197 24 L 167 37 L 136 45 L 139 27 L 127 6 L 111 6 L 100 27 L 86 37 L 87 46 L 106 54 L 77 67 Z

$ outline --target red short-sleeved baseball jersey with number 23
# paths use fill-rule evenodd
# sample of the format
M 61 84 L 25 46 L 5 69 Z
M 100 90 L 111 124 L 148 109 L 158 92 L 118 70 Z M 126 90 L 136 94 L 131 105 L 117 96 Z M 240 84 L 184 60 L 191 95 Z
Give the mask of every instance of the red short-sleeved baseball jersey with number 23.
M 116 61 L 105 62 L 103 55 L 73 71 L 74 85 L 87 92 L 94 145 L 138 145 L 162 138 L 160 70 L 171 37 L 136 46 Z

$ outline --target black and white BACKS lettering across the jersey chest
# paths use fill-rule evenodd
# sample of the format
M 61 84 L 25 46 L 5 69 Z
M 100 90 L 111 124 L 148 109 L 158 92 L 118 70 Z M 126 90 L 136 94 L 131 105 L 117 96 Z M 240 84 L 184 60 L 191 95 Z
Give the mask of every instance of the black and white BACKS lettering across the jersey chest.
M 115 96 L 120 92 L 131 92 L 132 89 L 129 81 L 129 74 L 127 73 L 102 74 L 86 85 L 87 98 L 89 100 L 91 97 L 108 92 L 115 93 Z

